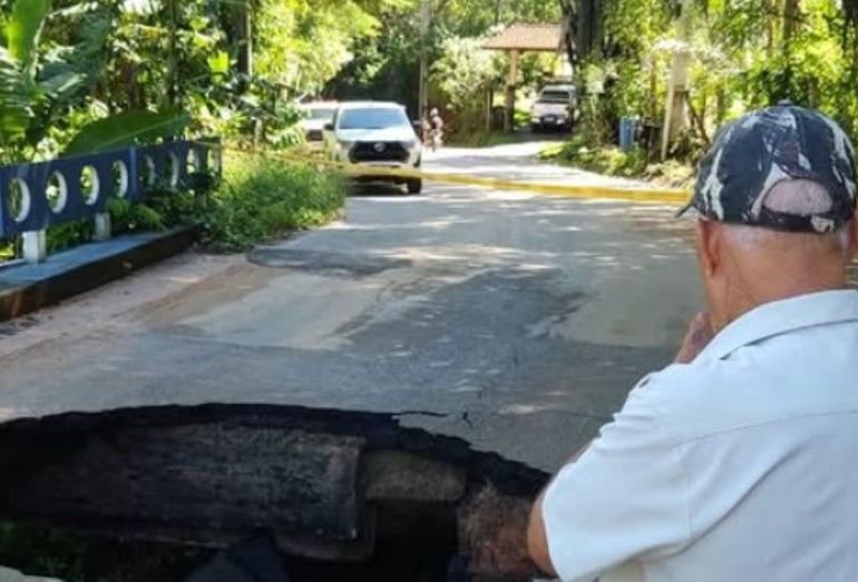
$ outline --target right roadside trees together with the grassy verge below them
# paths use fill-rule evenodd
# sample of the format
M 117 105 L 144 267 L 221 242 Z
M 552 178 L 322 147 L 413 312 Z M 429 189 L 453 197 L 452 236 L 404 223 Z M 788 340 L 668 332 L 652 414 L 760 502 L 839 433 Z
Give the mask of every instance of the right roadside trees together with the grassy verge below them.
M 581 121 L 545 157 L 684 185 L 720 126 L 783 99 L 822 110 L 858 138 L 855 0 L 577 4 L 588 7 L 576 28 Z M 683 75 L 684 90 L 672 93 Z M 677 115 L 665 128 L 669 109 Z M 627 152 L 617 149 L 623 117 L 638 124 Z

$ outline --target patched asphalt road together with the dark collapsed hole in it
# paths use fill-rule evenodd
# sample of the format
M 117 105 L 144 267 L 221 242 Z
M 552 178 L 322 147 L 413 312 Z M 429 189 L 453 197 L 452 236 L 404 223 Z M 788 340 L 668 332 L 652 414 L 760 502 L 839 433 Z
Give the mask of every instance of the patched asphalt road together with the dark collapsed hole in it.
M 426 167 L 601 179 L 532 161 L 538 147 Z M 40 420 L 0 426 L 0 513 L 216 548 L 264 529 L 326 563 L 419 564 L 418 548 L 426 580 L 451 556 L 523 580 L 535 492 L 670 361 L 701 304 L 672 216 L 370 190 L 326 228 L 187 254 L 3 324 L 0 416 Z

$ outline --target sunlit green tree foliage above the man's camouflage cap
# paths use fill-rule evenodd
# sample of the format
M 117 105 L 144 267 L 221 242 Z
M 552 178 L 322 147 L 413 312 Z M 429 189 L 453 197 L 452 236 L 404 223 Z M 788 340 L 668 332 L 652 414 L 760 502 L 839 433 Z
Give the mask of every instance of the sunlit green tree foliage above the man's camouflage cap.
M 679 2 L 608 0 L 604 50 L 582 68 L 616 80 L 598 91 L 584 132 L 601 142 L 604 124 L 635 116 L 661 124 L 674 53 L 688 46 L 690 129 L 677 155 L 695 157 L 724 120 L 782 99 L 821 109 L 858 137 L 858 6 L 855 0 L 710 0 L 691 2 L 688 27 Z M 683 30 L 689 30 L 683 36 Z M 587 83 L 585 83 L 587 85 Z M 584 111 L 586 112 L 586 111 Z

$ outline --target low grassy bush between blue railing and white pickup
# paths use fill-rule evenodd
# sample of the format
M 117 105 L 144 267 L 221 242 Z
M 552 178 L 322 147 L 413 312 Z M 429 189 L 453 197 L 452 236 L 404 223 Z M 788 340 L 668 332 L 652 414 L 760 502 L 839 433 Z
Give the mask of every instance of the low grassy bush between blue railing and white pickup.
M 203 244 L 213 250 L 246 250 L 254 244 L 337 218 L 344 178 L 332 170 L 263 156 L 236 156 L 223 183 L 198 214 Z

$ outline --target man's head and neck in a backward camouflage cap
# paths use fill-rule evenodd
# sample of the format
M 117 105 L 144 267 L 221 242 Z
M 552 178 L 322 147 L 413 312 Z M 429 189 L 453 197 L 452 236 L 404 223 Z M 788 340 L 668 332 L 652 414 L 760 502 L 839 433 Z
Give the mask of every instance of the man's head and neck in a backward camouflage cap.
M 779 105 L 724 127 L 692 207 L 715 329 L 763 303 L 846 285 L 858 249 L 855 152 L 821 114 Z

